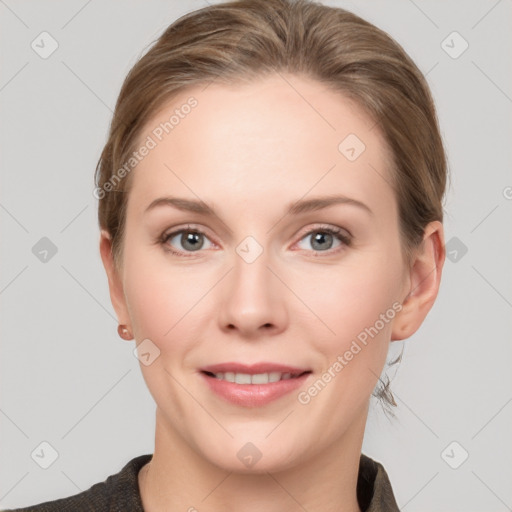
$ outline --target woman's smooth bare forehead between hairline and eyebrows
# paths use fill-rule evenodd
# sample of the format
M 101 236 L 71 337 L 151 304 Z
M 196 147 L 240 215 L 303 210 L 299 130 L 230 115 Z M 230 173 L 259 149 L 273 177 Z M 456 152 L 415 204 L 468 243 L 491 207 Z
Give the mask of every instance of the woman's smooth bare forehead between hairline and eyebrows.
M 139 145 L 145 141 L 152 149 L 132 171 L 129 210 L 165 193 L 244 209 L 335 191 L 393 198 L 375 122 L 305 77 L 189 88 L 146 123 Z

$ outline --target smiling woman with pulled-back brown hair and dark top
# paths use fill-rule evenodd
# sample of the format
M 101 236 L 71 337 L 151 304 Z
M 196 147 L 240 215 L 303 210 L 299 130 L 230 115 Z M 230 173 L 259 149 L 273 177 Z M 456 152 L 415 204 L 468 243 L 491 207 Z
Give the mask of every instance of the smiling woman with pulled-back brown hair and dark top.
M 398 510 L 361 448 L 389 342 L 438 293 L 445 181 L 426 81 L 370 23 L 306 0 L 173 23 L 123 84 L 96 189 L 155 450 L 18 510 Z

